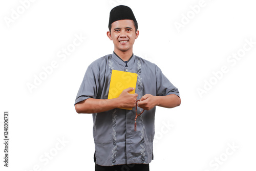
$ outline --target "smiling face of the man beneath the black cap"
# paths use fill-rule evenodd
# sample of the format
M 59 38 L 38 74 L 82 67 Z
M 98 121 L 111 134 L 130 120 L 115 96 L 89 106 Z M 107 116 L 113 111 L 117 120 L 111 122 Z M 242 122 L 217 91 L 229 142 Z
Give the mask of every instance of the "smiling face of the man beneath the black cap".
M 111 32 L 108 31 L 108 37 L 113 40 L 115 52 L 133 51 L 135 39 L 139 36 L 139 31 L 135 32 L 133 20 L 124 19 L 112 23 Z

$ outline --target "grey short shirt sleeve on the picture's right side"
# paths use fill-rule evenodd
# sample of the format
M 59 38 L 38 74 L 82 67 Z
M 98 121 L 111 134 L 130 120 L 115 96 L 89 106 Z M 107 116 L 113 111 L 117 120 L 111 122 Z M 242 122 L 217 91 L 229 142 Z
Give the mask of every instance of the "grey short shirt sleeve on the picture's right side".
M 163 75 L 161 69 L 156 66 L 157 96 L 176 94 L 180 97 L 179 90 Z

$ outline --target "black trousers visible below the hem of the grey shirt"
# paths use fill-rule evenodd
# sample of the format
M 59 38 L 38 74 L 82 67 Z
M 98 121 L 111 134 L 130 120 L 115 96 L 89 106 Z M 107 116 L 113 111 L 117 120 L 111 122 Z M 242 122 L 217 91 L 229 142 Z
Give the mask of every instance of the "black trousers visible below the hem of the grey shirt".
M 114 166 L 100 166 L 95 162 L 95 171 L 150 171 L 149 164 L 123 164 Z

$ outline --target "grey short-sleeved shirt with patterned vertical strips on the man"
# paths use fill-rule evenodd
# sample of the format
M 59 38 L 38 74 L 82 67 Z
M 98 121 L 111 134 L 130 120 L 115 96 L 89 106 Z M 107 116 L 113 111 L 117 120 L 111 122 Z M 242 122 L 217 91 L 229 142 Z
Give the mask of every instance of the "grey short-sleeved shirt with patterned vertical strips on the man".
M 112 70 L 138 74 L 135 91 L 137 99 L 145 94 L 179 96 L 178 89 L 154 63 L 133 55 L 126 65 L 113 53 L 95 60 L 88 67 L 75 104 L 88 98 L 108 99 Z M 142 110 L 138 107 L 138 113 Z M 96 164 L 150 163 L 153 159 L 155 111 L 156 108 L 144 111 L 137 118 L 137 131 L 134 131 L 135 108 L 131 111 L 113 109 L 92 114 Z

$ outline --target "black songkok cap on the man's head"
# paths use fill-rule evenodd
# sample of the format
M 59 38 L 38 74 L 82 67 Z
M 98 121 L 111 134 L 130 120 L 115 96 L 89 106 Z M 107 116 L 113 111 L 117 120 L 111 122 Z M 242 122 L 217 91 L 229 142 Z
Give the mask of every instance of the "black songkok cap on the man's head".
M 137 22 L 133 14 L 133 11 L 130 7 L 119 5 L 110 11 L 109 27 L 112 23 L 122 19 L 131 19 L 134 22 Z

